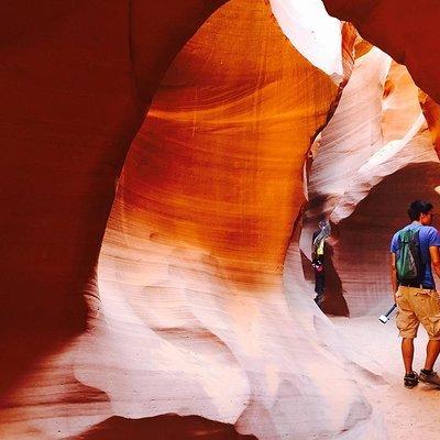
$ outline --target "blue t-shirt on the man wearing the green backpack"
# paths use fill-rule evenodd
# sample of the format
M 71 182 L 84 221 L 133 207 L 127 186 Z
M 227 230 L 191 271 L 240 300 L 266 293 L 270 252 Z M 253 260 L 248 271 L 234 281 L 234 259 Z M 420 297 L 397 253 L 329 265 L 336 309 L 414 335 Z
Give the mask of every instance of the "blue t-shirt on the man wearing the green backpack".
M 407 229 L 419 229 L 419 241 L 420 241 L 420 252 L 422 261 L 426 262 L 425 266 L 425 276 L 421 282 L 424 286 L 436 288 L 436 283 L 433 282 L 432 277 L 432 270 L 431 270 L 431 256 L 429 254 L 430 246 L 440 246 L 440 233 L 433 227 L 421 226 L 419 223 L 411 223 L 406 226 L 405 228 L 400 229 L 400 231 Z M 397 231 L 393 235 L 391 251 L 396 254 L 396 258 L 399 256 L 399 248 L 400 243 L 398 240 L 398 234 L 400 231 Z

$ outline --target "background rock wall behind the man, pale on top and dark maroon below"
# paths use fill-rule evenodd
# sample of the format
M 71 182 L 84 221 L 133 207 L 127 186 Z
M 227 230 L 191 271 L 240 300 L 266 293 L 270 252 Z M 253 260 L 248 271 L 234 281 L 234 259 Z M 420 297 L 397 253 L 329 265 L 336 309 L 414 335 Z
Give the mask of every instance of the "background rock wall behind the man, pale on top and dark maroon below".
M 332 256 L 339 294 L 351 317 L 376 312 L 389 297 L 389 238 L 408 222 L 409 202 L 438 201 L 436 118 L 431 117 L 431 136 L 419 95 L 406 68 L 373 48 L 356 59 L 338 109 L 315 146 L 301 249 L 309 255 L 311 233 L 321 216 L 328 217 L 339 238 Z M 334 293 L 327 299 L 334 302 Z M 340 310 L 332 305 L 331 311 L 343 315 L 343 309 L 341 300 Z

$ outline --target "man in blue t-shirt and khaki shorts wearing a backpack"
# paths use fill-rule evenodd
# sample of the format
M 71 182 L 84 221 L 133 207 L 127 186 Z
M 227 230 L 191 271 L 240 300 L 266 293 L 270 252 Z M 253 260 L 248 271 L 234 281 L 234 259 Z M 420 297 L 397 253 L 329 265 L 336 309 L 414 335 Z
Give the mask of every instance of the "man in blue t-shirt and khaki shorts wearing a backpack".
M 392 284 L 398 307 L 396 323 L 403 338 L 404 384 L 413 388 L 420 380 L 440 386 L 440 377 L 432 371 L 440 352 L 440 299 L 431 270 L 440 276 L 440 234 L 430 226 L 433 216 L 430 202 L 414 201 L 408 216 L 411 223 L 394 234 L 391 245 Z M 417 375 L 413 371 L 414 338 L 420 322 L 429 342 L 425 366 Z

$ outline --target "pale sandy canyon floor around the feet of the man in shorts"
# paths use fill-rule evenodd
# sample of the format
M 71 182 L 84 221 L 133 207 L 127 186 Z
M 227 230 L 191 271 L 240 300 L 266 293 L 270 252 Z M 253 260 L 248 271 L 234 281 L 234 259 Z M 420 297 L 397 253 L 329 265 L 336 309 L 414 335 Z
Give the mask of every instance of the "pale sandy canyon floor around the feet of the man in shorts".
M 331 318 L 338 330 L 362 358 L 375 363 L 380 374 L 359 371 L 356 380 L 373 408 L 383 414 L 389 440 L 435 440 L 440 435 L 440 388 L 419 383 L 413 389 L 403 385 L 404 366 L 400 358 L 400 340 L 395 319 L 386 324 L 376 316 L 362 318 Z M 427 342 L 420 327 L 415 341 L 415 371 L 422 367 Z M 354 360 L 355 360 L 354 354 Z M 436 370 L 440 371 L 440 359 Z

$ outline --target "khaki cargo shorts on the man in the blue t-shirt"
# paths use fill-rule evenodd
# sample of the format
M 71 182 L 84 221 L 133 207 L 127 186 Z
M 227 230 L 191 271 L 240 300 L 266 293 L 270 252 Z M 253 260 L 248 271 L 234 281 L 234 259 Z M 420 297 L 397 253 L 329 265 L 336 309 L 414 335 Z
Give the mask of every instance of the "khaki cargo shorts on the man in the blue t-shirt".
M 430 340 L 440 340 L 440 298 L 436 290 L 399 286 L 396 323 L 402 338 L 416 338 L 419 323 Z

